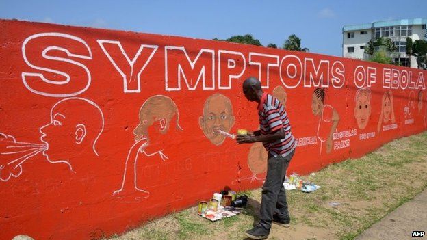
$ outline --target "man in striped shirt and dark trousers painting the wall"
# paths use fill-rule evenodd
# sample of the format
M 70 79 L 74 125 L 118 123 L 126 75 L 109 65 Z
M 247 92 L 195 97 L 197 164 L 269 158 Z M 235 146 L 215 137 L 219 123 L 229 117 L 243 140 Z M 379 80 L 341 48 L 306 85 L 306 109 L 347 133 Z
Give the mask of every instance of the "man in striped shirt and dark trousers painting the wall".
M 245 232 L 252 239 L 265 239 L 270 234 L 272 221 L 289 227 L 286 193 L 283 187 L 287 166 L 294 156 L 296 142 L 285 107 L 274 96 L 261 90 L 261 83 L 249 77 L 243 83 L 248 101 L 258 103 L 260 129 L 248 135 L 237 135 L 238 144 L 262 142 L 268 152 L 266 181 L 262 188 L 260 222 Z

